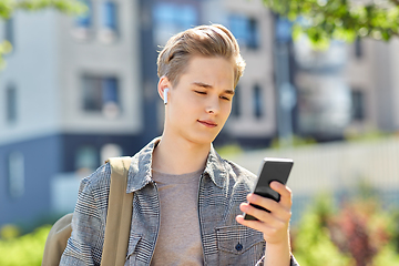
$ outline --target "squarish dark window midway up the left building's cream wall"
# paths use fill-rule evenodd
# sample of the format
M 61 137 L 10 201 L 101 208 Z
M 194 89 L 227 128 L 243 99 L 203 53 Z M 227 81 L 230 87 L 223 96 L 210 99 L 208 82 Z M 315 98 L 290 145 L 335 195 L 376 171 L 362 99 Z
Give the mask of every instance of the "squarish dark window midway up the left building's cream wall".
M 83 109 L 88 112 L 103 112 L 116 117 L 121 112 L 119 82 L 116 78 L 84 76 Z

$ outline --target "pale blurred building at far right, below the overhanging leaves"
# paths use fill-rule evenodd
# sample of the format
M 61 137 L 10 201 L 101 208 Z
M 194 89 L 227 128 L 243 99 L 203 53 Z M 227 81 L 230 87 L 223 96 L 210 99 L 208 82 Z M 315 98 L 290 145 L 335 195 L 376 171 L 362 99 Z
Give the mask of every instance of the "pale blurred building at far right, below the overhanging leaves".
M 332 41 L 327 51 L 304 40 L 294 47 L 299 135 L 334 140 L 399 129 L 397 39 Z

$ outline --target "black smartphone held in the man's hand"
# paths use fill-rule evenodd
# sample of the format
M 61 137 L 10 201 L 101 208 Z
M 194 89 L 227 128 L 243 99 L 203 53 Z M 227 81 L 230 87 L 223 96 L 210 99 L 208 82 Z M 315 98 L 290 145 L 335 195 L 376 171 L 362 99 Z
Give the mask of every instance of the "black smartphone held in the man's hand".
M 270 188 L 270 183 L 273 181 L 278 181 L 284 185 L 287 184 L 293 165 L 294 161 L 291 158 L 265 157 L 262 162 L 257 183 L 253 193 L 279 202 L 280 195 L 276 191 Z M 256 208 L 264 209 L 268 213 L 270 212 L 264 207 L 254 204 L 250 205 Z M 245 213 L 244 219 L 257 221 L 257 218 L 255 218 L 254 216 Z

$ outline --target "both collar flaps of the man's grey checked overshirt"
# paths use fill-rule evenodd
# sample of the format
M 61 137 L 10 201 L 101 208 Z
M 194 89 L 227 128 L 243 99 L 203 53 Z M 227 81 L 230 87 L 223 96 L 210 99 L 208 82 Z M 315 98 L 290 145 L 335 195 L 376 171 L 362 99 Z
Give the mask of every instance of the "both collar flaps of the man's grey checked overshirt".
M 154 139 L 139 153 L 132 157 L 132 163 L 127 174 L 126 193 L 140 191 L 152 180 L 152 155 L 161 137 Z M 214 146 L 211 145 L 211 151 L 206 161 L 204 175 L 208 175 L 216 186 L 223 187 L 226 177 L 226 170 L 224 167 L 223 158 L 217 154 Z

